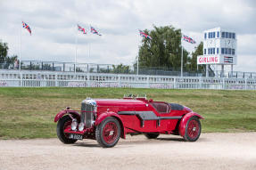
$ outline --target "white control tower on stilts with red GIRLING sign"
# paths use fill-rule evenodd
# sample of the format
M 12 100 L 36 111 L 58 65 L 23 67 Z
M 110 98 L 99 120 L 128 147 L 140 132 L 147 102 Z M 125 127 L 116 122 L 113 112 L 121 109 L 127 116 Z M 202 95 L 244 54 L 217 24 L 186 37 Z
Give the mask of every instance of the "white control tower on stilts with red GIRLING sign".
M 221 65 L 221 73 L 224 73 L 224 65 L 236 64 L 236 35 L 232 31 L 222 28 L 211 28 L 203 32 L 203 55 L 197 57 L 197 64 L 206 64 L 206 76 L 210 65 Z

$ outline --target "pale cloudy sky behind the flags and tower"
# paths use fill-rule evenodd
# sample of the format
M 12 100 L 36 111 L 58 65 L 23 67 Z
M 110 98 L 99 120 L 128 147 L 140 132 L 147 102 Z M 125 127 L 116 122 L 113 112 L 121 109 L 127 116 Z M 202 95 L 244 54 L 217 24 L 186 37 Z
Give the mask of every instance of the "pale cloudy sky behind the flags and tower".
M 237 35 L 234 70 L 256 72 L 254 0 L 0 0 L 0 23 L 9 55 L 21 53 L 21 60 L 74 62 L 77 49 L 80 63 L 127 65 L 135 62 L 141 45 L 138 29 L 180 28 L 197 42 L 184 44 L 192 52 L 204 30 L 220 27 Z M 90 26 L 103 36 L 91 34 Z

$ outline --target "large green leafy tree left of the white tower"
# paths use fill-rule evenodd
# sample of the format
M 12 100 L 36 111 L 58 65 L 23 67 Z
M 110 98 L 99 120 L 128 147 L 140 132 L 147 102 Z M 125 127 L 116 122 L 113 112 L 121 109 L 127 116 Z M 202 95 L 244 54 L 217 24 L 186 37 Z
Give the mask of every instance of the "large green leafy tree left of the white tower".
M 139 46 L 139 67 L 180 68 L 181 62 L 181 30 L 172 26 L 155 27 L 144 30 L 152 40 L 143 38 Z M 184 67 L 188 53 L 183 51 Z

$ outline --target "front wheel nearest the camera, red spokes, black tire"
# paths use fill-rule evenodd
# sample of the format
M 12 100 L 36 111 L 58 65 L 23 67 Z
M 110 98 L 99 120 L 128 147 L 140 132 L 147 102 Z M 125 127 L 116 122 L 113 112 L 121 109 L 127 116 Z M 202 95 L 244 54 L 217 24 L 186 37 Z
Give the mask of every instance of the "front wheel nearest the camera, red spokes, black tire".
M 104 127 L 109 124 L 114 125 L 116 127 L 116 129 L 113 130 L 113 132 L 110 132 L 110 134 L 108 135 L 108 137 L 113 135 L 113 137 L 112 137 L 113 139 L 106 141 L 104 138 L 106 138 L 106 136 L 107 136 L 106 133 L 108 131 L 104 131 L 105 130 Z M 117 142 L 119 142 L 120 132 L 121 132 L 120 122 L 114 117 L 107 117 L 103 120 L 103 122 L 100 125 L 98 125 L 96 127 L 95 137 L 96 137 L 97 142 L 103 148 L 111 148 L 111 147 L 115 146 L 117 144 Z

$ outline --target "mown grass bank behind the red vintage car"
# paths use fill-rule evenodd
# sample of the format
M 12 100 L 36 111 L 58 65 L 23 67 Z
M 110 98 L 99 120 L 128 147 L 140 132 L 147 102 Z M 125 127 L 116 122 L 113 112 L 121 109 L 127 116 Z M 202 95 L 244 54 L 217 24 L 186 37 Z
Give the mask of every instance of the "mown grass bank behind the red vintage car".
M 121 98 L 124 93 L 186 105 L 205 117 L 202 132 L 256 132 L 256 91 L 0 88 L 0 139 L 56 137 L 54 116 L 61 109 L 79 109 L 87 97 Z

